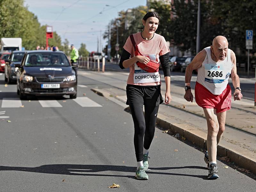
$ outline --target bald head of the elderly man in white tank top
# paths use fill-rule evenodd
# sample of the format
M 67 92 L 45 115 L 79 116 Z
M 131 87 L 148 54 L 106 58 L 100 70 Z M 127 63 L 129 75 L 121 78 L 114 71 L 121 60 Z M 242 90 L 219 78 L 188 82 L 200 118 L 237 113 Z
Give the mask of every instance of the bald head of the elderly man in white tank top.
M 217 36 L 212 41 L 211 51 L 214 54 L 214 61 L 223 61 L 228 54 L 228 40 L 224 36 Z

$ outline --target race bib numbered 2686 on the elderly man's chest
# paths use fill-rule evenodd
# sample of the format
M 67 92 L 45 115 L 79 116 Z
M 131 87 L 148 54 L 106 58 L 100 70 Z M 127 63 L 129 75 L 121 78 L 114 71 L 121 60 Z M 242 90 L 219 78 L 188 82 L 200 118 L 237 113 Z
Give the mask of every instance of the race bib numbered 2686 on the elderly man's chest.
M 210 83 L 222 83 L 226 79 L 223 65 L 204 64 L 204 81 Z

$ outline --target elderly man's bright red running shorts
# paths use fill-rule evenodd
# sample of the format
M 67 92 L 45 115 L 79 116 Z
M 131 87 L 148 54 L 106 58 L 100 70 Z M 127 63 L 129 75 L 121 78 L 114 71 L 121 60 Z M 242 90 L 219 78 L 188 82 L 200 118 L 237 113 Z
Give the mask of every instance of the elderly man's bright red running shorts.
M 203 85 L 196 82 L 195 87 L 196 103 L 202 108 L 216 109 L 216 113 L 221 113 L 231 108 L 231 88 L 227 85 L 220 95 L 213 95 Z

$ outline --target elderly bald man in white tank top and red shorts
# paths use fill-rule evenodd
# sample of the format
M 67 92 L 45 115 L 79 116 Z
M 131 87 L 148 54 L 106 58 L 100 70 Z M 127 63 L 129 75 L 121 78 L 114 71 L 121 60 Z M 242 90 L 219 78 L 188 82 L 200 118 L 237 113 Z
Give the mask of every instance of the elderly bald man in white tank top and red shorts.
M 230 74 L 235 87 L 234 100 L 241 100 L 243 97 L 236 74 L 236 55 L 228 48 L 228 40 L 223 36 L 215 37 L 211 47 L 200 51 L 186 68 L 184 98 L 191 102 L 193 94 L 190 81 L 195 69 L 198 71 L 196 103 L 204 109 L 208 128 L 204 161 L 209 169 L 208 179 L 217 179 L 217 145 L 225 130 L 226 112 L 231 108 L 231 88 L 228 85 Z

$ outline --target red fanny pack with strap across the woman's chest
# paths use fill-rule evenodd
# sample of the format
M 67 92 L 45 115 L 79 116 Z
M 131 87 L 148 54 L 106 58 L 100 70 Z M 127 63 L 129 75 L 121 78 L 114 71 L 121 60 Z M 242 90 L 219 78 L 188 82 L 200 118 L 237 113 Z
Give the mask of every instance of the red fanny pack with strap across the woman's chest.
M 132 45 L 134 47 L 135 56 L 137 56 L 137 55 L 143 56 L 142 54 L 140 54 L 140 51 L 138 49 L 138 46 L 135 43 L 133 35 L 130 35 L 130 39 L 131 39 Z M 138 61 L 136 63 L 138 65 L 138 67 L 140 67 L 141 69 L 143 69 L 144 71 L 147 71 L 149 73 L 154 73 L 154 72 L 157 72 L 159 70 L 158 69 L 159 68 L 159 63 L 156 63 L 156 62 L 153 62 L 153 61 L 149 61 L 147 64 L 140 63 Z

